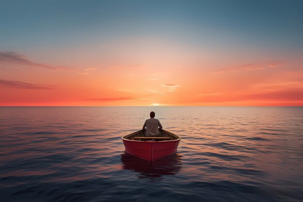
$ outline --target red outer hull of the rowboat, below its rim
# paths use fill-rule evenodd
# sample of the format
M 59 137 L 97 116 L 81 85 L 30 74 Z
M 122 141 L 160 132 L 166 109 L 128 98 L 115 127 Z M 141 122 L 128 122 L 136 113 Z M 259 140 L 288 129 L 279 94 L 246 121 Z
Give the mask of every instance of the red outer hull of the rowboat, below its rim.
M 178 140 L 167 141 L 136 141 L 122 138 L 125 151 L 148 161 L 155 161 L 177 152 L 180 142 Z

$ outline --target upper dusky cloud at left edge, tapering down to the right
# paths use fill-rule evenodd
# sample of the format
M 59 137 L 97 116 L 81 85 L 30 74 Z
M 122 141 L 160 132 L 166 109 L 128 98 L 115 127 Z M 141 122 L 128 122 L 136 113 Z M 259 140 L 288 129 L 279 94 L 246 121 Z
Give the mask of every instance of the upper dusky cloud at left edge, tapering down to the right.
M 32 66 L 32 67 L 40 67 L 52 70 L 59 70 L 60 68 L 52 67 L 46 64 L 41 64 L 37 62 L 32 62 L 27 59 L 24 55 L 19 55 L 15 52 L 8 51 L 0 51 L 0 63 L 3 64 L 16 64 L 20 66 Z

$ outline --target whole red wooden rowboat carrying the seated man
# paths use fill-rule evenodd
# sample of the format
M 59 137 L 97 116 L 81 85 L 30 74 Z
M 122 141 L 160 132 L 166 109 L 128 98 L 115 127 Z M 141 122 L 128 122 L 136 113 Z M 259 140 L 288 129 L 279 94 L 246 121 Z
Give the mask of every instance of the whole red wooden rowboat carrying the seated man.
M 125 151 L 148 161 L 155 161 L 177 152 L 181 138 L 166 130 L 160 130 L 157 137 L 146 137 L 145 131 L 122 137 Z

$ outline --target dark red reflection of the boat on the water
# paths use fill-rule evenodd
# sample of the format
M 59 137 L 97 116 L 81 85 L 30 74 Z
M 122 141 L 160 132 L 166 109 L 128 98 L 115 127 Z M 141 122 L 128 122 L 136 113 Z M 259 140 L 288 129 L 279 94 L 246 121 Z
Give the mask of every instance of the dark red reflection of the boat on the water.
M 156 161 L 147 161 L 125 152 L 121 155 L 122 169 L 138 173 L 138 178 L 160 178 L 175 175 L 182 168 L 181 155 L 175 153 Z

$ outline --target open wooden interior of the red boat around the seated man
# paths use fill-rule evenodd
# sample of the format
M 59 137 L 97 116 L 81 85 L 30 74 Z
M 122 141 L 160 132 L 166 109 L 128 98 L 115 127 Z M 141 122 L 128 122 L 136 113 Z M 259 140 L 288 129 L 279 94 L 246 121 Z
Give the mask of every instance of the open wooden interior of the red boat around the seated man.
M 146 141 L 146 140 L 156 140 L 156 141 L 166 141 L 166 140 L 178 140 L 180 137 L 177 135 L 170 133 L 166 130 L 160 130 L 160 135 L 157 137 L 147 137 L 145 135 L 146 131 L 139 130 L 135 133 L 131 133 L 129 135 L 123 136 L 126 140 L 138 140 L 138 141 Z

